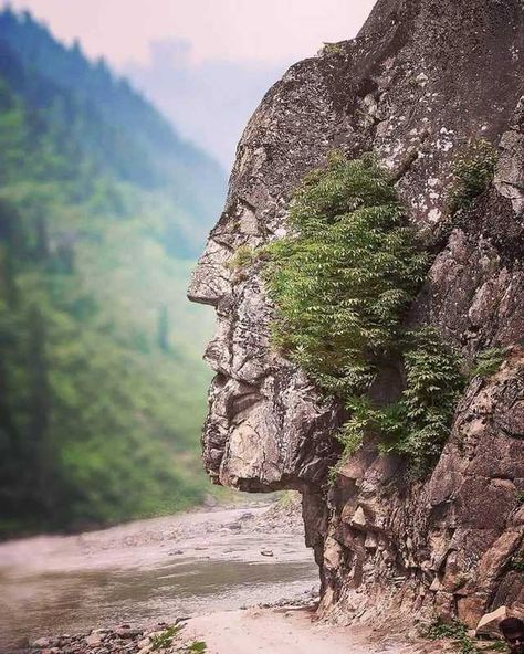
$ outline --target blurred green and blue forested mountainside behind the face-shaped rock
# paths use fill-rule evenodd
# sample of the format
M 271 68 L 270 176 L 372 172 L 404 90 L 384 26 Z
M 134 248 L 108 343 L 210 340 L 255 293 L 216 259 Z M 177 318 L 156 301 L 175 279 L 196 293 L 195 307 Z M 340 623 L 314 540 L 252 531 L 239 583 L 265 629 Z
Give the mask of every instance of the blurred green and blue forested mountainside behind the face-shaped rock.
M 224 179 L 103 62 L 0 14 L 0 534 L 197 502 Z

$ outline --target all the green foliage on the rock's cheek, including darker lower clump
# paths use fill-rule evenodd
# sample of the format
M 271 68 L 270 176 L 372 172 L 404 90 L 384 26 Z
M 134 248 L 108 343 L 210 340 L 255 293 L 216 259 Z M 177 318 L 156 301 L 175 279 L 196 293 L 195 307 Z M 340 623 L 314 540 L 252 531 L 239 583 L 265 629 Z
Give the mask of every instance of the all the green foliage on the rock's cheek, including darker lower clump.
M 345 402 L 344 457 L 375 434 L 382 451 L 408 455 L 422 472 L 448 435 L 462 375 L 436 330 L 402 328 L 428 261 L 395 188 L 371 156 L 334 154 L 295 193 L 289 223 L 291 234 L 266 247 L 273 342 Z M 395 360 L 404 361 L 406 390 L 375 407 L 367 391 Z

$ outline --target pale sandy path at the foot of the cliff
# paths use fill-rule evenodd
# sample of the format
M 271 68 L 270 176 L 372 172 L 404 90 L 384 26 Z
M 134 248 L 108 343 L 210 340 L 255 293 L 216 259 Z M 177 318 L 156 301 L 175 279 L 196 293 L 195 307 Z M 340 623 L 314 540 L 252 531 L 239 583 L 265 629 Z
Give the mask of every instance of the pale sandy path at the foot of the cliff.
M 207 654 L 415 654 L 442 652 L 441 643 L 406 645 L 364 626 L 315 622 L 307 610 L 249 609 L 193 618 L 185 636 L 207 643 Z

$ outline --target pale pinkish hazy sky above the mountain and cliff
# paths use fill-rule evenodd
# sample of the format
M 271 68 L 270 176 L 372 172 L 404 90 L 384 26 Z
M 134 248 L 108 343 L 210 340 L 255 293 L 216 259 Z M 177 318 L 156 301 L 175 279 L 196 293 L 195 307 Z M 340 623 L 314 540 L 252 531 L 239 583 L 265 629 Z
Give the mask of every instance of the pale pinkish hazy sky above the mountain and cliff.
M 323 41 L 356 34 L 375 0 L 12 0 L 78 39 L 224 166 L 263 93 Z

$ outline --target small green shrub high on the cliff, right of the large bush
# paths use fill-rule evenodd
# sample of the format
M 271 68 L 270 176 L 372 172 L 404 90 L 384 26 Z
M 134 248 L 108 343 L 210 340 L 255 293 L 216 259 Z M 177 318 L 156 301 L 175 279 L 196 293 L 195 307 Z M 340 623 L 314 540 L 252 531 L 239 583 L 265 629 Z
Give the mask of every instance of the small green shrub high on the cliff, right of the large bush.
M 449 213 L 468 209 L 485 191 L 493 179 L 497 158 L 494 146 L 481 138 L 454 159 L 451 168 L 453 181 L 448 194 Z

